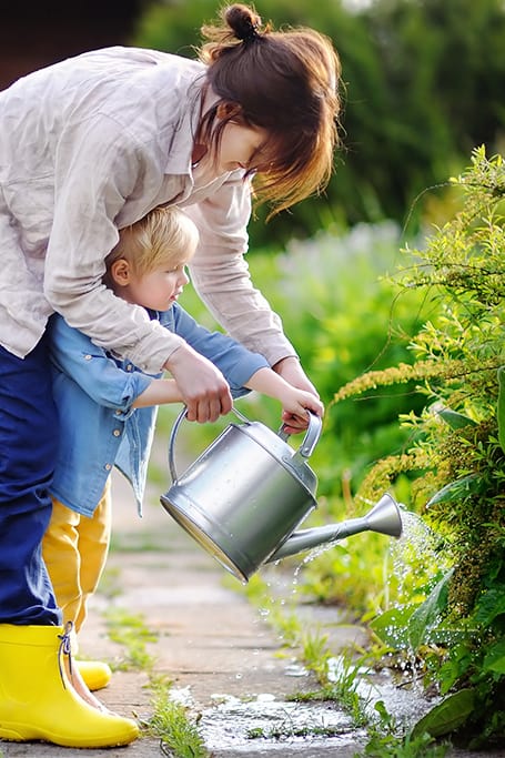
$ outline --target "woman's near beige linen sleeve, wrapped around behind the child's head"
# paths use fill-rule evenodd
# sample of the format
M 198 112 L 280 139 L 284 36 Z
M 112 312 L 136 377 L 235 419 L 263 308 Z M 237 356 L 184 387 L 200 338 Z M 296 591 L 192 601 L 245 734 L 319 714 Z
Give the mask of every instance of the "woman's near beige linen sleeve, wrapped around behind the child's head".
M 101 283 L 104 259 L 119 236 L 114 221 L 127 199 L 140 192 L 155 198 L 160 189 L 153 180 L 159 170 L 149 165 L 147 155 L 107 117 L 94 115 L 62 135 L 44 294 L 70 326 L 95 345 L 154 373 L 181 344 L 180 337 Z

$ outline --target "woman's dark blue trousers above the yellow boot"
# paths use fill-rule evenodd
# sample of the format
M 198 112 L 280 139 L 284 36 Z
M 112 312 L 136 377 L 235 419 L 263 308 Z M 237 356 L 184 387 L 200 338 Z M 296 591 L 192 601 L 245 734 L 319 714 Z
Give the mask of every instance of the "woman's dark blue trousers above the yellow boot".
M 22 360 L 0 346 L 0 624 L 61 623 L 41 552 L 57 439 L 46 337 Z

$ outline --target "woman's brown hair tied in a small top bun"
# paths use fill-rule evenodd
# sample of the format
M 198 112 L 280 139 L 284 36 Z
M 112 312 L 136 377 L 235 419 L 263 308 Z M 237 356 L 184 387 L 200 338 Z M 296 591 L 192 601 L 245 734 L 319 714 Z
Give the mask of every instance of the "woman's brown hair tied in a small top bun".
M 221 23 L 202 27 L 200 59 L 219 102 L 205 114 L 199 138 L 219 146 L 228 121 L 267 131 L 254 188 L 274 212 L 327 184 L 340 143 L 341 65 L 331 40 L 304 27 L 274 31 L 254 9 L 228 6 Z M 229 115 L 215 124 L 218 107 Z M 238 108 L 236 108 L 238 107 Z

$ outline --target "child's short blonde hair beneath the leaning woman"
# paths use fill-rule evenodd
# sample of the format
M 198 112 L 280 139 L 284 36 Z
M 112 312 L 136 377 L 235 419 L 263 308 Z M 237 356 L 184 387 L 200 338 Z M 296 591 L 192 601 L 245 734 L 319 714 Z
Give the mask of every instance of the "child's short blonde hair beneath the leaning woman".
M 124 259 L 138 275 L 143 275 L 159 266 L 175 266 L 188 261 L 198 242 L 196 226 L 180 208 L 155 208 L 140 221 L 120 230 L 119 242 L 107 256 L 105 265 L 109 271 L 114 261 Z

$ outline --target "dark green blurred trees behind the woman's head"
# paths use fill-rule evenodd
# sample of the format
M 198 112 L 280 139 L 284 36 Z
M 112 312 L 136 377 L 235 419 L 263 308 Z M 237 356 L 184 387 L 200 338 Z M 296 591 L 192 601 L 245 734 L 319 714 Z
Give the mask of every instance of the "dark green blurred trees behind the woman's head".
M 145 3 L 132 43 L 193 57 L 216 0 Z M 471 150 L 499 152 L 505 108 L 505 6 L 502 0 L 257 0 L 275 28 L 311 26 L 332 38 L 343 67 L 342 137 L 323 198 L 266 226 L 251 224 L 253 246 L 280 249 L 331 223 L 395 219 L 415 233 L 428 186 L 465 166 Z M 443 190 L 442 190 L 443 194 Z M 433 195 L 433 193 L 432 193 Z

